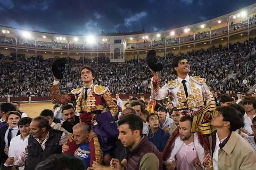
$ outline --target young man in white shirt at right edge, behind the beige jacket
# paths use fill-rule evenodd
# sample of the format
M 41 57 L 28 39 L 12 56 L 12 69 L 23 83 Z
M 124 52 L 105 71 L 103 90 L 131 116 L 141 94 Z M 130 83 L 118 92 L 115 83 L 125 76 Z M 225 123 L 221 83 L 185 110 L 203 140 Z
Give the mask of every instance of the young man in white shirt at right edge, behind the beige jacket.
M 247 96 L 243 99 L 243 105 L 245 109 L 244 114 L 244 129 L 246 129 L 249 134 L 253 134 L 251 125 L 253 125 L 253 118 L 256 116 L 256 98 L 253 96 Z

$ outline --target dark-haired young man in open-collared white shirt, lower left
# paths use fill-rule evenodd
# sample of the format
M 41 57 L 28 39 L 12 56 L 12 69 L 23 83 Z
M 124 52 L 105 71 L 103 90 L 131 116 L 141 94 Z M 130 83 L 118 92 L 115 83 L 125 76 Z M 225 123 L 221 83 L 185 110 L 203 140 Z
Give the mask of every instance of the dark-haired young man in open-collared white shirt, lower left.
M 29 137 L 30 128 L 29 125 L 32 122 L 32 118 L 30 117 L 24 117 L 21 118 L 18 122 L 18 127 L 20 130 L 20 135 L 15 136 L 12 138 L 10 147 L 9 147 L 9 153 L 8 153 L 8 159 L 5 162 L 5 166 L 13 166 L 15 161 L 19 158 L 22 149 L 25 146 L 26 140 Z M 20 167 L 19 170 L 24 170 L 24 166 Z

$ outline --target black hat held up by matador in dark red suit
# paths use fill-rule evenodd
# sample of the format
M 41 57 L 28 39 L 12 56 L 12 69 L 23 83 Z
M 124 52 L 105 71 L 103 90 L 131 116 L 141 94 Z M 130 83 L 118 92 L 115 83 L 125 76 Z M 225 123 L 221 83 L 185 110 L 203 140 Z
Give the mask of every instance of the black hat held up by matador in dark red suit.
M 52 74 L 57 79 L 63 79 L 62 72 L 65 70 L 66 58 L 56 59 L 52 63 Z

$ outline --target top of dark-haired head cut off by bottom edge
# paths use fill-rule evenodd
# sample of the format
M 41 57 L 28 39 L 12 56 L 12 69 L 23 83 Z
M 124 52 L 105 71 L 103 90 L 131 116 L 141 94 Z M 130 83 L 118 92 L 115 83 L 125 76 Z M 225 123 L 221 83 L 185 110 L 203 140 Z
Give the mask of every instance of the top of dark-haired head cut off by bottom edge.
M 41 161 L 35 170 L 84 170 L 84 162 L 69 154 L 53 154 Z

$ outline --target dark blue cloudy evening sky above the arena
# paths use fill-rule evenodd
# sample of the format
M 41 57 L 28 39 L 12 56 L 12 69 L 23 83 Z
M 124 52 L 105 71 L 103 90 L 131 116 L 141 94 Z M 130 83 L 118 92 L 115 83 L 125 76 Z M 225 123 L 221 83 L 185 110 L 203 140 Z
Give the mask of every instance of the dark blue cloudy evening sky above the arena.
M 0 0 L 0 25 L 59 34 L 178 28 L 255 0 Z

